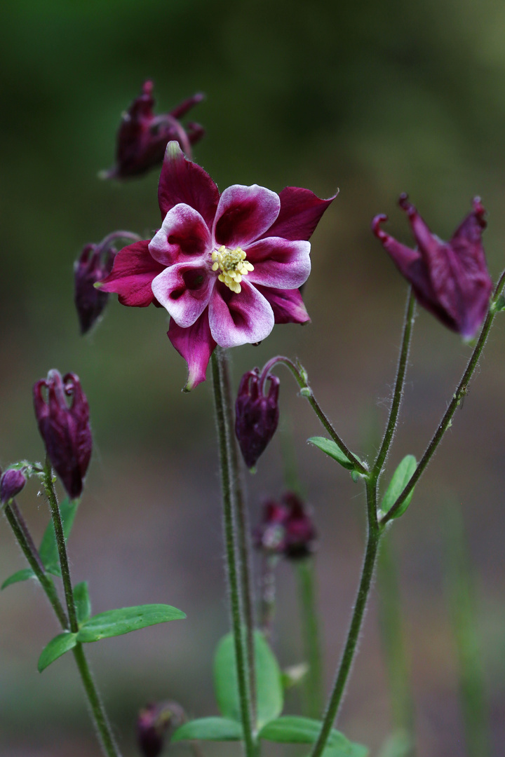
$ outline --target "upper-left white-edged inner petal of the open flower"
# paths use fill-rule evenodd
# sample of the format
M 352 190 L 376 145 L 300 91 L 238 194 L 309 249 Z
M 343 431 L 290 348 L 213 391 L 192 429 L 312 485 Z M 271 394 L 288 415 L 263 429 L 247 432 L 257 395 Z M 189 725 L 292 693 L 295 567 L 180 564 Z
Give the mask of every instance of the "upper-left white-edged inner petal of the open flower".
M 168 211 L 149 245 L 158 263 L 173 266 L 210 251 L 210 231 L 197 210 L 179 203 Z

